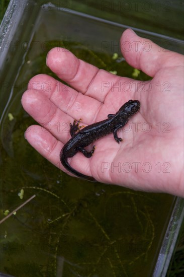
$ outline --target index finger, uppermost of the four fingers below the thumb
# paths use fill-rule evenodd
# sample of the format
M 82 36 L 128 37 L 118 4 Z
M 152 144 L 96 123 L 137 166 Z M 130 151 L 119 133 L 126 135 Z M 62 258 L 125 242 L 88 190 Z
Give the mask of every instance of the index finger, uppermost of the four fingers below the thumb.
M 47 65 L 63 81 L 82 94 L 104 102 L 111 87 L 109 80 L 117 83 L 119 77 L 99 70 L 96 66 L 78 59 L 64 48 L 53 48 L 48 52 Z

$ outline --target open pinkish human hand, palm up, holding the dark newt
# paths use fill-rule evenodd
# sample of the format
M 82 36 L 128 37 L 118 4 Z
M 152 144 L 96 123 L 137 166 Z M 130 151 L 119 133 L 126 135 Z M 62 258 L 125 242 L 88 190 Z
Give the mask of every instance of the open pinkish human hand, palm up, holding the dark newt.
M 66 49 L 53 48 L 46 63 L 72 88 L 42 74 L 30 80 L 22 105 L 41 126 L 30 126 L 25 137 L 48 161 L 66 171 L 59 154 L 70 138 L 70 122 L 79 118 L 81 125 L 98 122 L 116 113 L 128 100 L 139 100 L 140 111 L 129 120 L 132 129 L 118 132 L 123 142 L 118 144 L 109 134 L 94 143 L 96 150 L 91 158 L 77 153 L 68 162 L 103 183 L 184 197 L 183 56 L 158 47 L 130 29 L 124 31 L 120 42 L 126 61 L 152 77 L 146 85 L 150 89 L 142 89 L 144 82 L 136 87 L 133 79 L 99 70 Z M 131 45 L 129 51 L 125 42 Z M 112 86 L 102 89 L 103 82 Z M 117 86 L 120 84 L 121 88 Z M 145 122 L 151 124 L 149 132 L 142 128 Z

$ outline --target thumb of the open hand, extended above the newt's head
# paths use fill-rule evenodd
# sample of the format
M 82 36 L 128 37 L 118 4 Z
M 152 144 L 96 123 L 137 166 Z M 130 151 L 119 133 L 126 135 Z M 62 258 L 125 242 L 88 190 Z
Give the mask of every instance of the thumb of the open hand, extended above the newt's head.
M 131 29 L 123 32 L 121 47 L 126 61 L 151 77 L 154 77 L 160 68 L 183 65 L 181 54 L 166 50 L 149 39 L 139 37 Z

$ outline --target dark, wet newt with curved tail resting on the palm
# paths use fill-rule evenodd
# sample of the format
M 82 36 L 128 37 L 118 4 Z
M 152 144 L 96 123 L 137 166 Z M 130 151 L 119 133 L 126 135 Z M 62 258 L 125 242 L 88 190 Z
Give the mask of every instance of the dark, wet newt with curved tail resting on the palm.
M 140 109 L 140 102 L 138 100 L 129 100 L 126 102 L 117 113 L 108 114 L 108 118 L 88 126 L 79 126 L 80 120 L 74 120 L 73 125 L 70 123 L 70 140 L 63 146 L 60 152 L 60 161 L 62 165 L 71 173 L 82 179 L 96 182 L 91 176 L 84 175 L 74 168 L 72 168 L 67 159 L 73 157 L 77 152 L 83 153 L 86 158 L 90 158 L 95 151 L 93 146 L 90 152 L 86 151 L 84 147 L 98 140 L 109 133 L 114 134 L 115 141 L 119 144 L 122 141 L 121 137 L 118 137 L 117 131 L 125 126 L 129 118 L 137 113 Z

